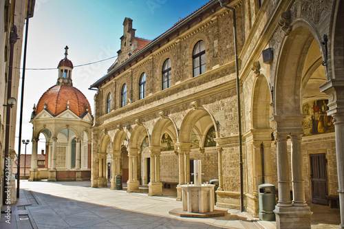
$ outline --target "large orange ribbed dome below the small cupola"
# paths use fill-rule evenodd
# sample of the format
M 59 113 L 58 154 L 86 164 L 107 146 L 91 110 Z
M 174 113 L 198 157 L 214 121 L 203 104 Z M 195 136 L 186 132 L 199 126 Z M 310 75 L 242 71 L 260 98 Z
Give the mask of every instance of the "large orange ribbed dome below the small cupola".
M 39 99 L 36 107 L 36 114 L 43 109 L 49 111 L 52 116 L 67 110 L 69 101 L 69 110 L 82 118 L 86 112 L 92 113 L 89 102 L 84 94 L 71 85 L 55 85 L 50 87 Z

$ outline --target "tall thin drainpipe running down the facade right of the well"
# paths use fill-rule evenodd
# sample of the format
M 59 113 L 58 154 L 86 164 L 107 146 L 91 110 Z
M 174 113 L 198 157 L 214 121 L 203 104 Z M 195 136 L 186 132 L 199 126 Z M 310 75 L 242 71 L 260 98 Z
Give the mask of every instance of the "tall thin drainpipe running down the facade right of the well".
M 239 126 L 239 151 L 240 151 L 240 210 L 244 211 L 244 173 L 243 173 L 243 159 L 242 159 L 242 139 L 241 139 L 241 105 L 240 105 L 240 88 L 239 88 L 239 63 L 237 55 L 237 21 L 235 19 L 235 8 L 222 4 L 222 0 L 218 0 L 220 6 L 232 10 L 233 12 L 233 35 L 234 35 L 234 54 L 235 54 L 235 72 L 237 74 L 237 115 Z

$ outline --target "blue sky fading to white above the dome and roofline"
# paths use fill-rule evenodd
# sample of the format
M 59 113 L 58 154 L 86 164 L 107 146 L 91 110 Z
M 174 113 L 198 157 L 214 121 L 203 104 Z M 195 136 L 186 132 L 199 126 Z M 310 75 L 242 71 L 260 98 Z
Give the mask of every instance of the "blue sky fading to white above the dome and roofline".
M 47 89 L 56 84 L 58 74 L 57 69 L 30 69 L 56 68 L 64 58 L 65 45 L 69 47 L 68 58 L 74 66 L 111 58 L 120 49 L 125 17 L 133 19 L 136 36 L 153 40 L 173 27 L 179 18 L 187 17 L 207 2 L 208 0 L 36 0 L 34 17 L 29 21 L 22 139 L 32 139 L 32 124 L 29 122 L 32 107 Z M 92 113 L 96 91 L 88 88 L 107 73 L 115 59 L 73 69 L 73 85 L 85 94 Z M 19 94 L 19 98 L 20 96 Z M 18 137 L 19 111 L 17 114 Z M 39 152 L 44 148 L 44 141 L 40 139 Z M 23 146 L 21 153 L 24 153 Z M 31 147 L 32 144 L 28 144 L 27 153 L 31 153 Z M 16 151 L 17 149 L 18 143 L 15 146 Z

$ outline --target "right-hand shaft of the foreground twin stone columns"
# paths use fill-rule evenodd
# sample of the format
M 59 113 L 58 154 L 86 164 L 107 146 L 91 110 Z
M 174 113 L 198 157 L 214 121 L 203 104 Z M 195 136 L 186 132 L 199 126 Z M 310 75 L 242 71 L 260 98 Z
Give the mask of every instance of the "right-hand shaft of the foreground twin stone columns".
M 301 151 L 301 135 L 291 135 L 292 148 L 292 205 L 307 206 L 305 203 L 305 182 L 303 180 L 303 158 Z

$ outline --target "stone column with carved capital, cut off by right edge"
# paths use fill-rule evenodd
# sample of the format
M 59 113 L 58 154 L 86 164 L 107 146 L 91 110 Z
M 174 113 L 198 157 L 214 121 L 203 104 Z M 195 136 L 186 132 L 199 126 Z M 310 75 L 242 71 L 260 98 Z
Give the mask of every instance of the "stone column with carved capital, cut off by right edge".
M 338 71 L 340 72 L 340 71 Z M 343 72 L 343 71 L 342 71 Z M 343 74 L 342 74 L 343 76 Z M 336 160 L 338 174 L 339 208 L 341 209 L 341 228 L 344 228 L 344 79 L 338 76 L 327 80 L 320 86 L 321 92 L 328 95 L 327 116 L 334 120 L 336 136 Z

